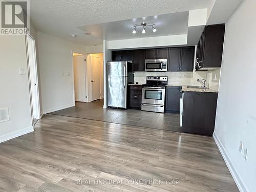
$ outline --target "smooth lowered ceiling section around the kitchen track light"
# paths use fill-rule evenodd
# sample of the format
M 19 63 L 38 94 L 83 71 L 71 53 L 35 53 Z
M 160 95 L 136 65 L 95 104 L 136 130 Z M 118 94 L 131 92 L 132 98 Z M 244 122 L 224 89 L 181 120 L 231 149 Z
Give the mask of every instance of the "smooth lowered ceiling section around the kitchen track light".
M 133 34 L 133 26 L 142 22 L 155 24 L 157 31 L 153 33 L 152 26 L 146 26 L 146 33 L 141 33 L 142 26 L 136 28 L 136 34 Z M 106 40 L 142 38 L 165 35 L 187 34 L 188 12 L 170 13 L 164 15 L 147 16 L 143 18 L 133 18 L 79 27 L 79 29 L 90 32 L 94 36 Z

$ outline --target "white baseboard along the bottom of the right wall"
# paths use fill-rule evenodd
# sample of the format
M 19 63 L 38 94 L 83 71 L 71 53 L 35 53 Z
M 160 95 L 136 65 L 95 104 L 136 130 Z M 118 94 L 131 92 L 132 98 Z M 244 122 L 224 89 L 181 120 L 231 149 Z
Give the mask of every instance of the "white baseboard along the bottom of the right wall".
M 234 166 L 232 165 L 232 162 L 230 161 L 230 158 L 228 157 L 226 150 L 225 150 L 224 146 L 222 145 L 219 137 L 215 133 L 214 133 L 213 137 L 214 137 L 214 140 L 221 152 L 221 155 L 222 155 L 222 157 L 223 157 L 223 159 L 224 159 L 224 161 L 234 179 L 234 182 L 236 182 L 236 184 L 241 192 L 247 192 L 247 189 L 246 189 L 245 185 L 243 184 L 241 177 L 239 176 L 236 168 L 234 168 Z

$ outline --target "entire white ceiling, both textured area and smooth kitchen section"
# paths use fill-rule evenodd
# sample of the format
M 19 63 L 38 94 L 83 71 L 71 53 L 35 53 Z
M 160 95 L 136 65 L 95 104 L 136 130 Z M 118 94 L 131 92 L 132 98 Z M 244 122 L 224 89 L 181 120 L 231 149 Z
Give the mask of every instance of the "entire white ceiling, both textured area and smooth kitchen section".
M 215 0 L 33 0 L 30 1 L 30 16 L 38 31 L 90 46 L 102 45 L 102 38 L 134 38 L 132 26 L 141 23 L 143 18 L 146 22 L 156 23 L 158 29 L 153 34 L 148 28 L 148 32 L 144 34 L 146 37 L 187 33 L 189 30 L 185 23 L 189 10 L 212 8 L 209 15 L 211 23 L 219 23 L 218 20 L 223 23 L 241 1 L 216 0 L 215 3 Z M 229 7 L 224 8 L 222 5 Z M 158 16 L 155 18 L 153 15 Z M 166 25 L 167 23 L 170 25 Z M 87 32 L 92 35 L 85 35 L 84 30 L 89 30 Z M 71 34 L 76 34 L 77 37 L 71 37 Z M 142 37 L 142 34 L 136 35 Z

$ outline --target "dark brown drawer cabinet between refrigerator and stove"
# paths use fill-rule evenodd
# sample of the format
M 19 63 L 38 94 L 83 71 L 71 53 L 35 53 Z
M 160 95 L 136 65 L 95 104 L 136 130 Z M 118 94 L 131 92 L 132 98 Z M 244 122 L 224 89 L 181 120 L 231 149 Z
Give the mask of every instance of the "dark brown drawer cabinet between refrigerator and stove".
M 141 109 L 141 85 L 130 85 L 128 91 L 128 107 L 130 109 Z

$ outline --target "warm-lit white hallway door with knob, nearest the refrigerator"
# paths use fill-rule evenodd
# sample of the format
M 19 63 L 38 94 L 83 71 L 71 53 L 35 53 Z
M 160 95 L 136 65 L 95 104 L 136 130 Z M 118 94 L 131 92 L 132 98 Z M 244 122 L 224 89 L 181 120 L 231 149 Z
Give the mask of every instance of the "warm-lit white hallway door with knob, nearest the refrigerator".
M 92 100 L 100 99 L 100 58 L 91 56 Z

